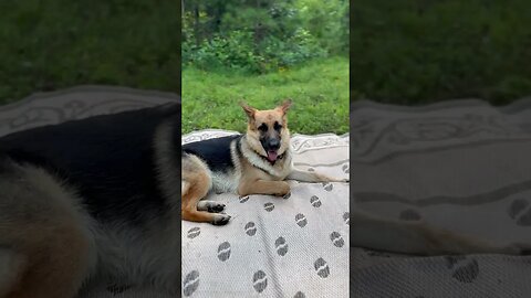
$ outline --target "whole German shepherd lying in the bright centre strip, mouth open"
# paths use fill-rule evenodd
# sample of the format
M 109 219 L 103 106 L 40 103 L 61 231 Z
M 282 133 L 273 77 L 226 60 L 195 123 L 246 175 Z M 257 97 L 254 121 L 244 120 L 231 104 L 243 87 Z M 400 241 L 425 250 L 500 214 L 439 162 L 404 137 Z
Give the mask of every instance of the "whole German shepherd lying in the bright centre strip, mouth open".
M 285 195 L 284 180 L 301 182 L 346 182 L 316 172 L 293 168 L 288 129 L 291 100 L 259 110 L 240 103 L 248 117 L 247 132 L 191 142 L 183 146 L 183 219 L 227 224 L 230 215 L 220 213 L 225 205 L 202 200 L 210 191 L 239 195 Z

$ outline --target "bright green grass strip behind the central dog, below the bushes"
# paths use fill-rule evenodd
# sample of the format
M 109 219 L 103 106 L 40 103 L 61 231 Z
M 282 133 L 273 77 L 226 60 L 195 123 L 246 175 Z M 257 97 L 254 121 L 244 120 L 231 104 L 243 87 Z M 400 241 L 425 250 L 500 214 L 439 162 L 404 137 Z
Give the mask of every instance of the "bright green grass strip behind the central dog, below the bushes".
M 219 128 L 243 131 L 247 118 L 240 99 L 259 109 L 292 98 L 290 130 L 314 135 L 348 131 L 348 60 L 313 61 L 296 68 L 249 76 L 183 72 L 183 132 Z

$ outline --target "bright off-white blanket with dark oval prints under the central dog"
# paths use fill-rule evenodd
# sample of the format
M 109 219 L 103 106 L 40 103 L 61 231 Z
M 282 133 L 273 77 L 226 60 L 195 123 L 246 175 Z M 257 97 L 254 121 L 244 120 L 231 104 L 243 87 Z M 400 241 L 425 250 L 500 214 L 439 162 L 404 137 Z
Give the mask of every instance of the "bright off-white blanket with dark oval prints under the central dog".
M 348 178 L 347 136 L 294 136 L 292 147 L 295 167 Z M 212 195 L 232 216 L 226 226 L 183 222 L 185 297 L 348 297 L 348 184 L 290 185 L 287 199 Z

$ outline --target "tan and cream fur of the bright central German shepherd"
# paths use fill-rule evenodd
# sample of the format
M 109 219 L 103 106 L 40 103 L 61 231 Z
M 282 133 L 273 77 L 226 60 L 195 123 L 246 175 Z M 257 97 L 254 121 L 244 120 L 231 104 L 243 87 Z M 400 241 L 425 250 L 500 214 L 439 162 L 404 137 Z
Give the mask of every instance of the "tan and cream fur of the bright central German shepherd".
M 268 126 L 268 134 L 280 135 L 280 148 L 278 155 L 287 155 L 290 151 L 290 130 L 288 128 L 288 110 L 291 106 L 291 100 L 285 100 L 273 109 L 259 110 L 246 104 L 241 104 L 244 113 L 248 116 L 247 132 L 244 141 L 242 141 L 241 150 L 243 157 L 233 155 L 237 160 L 235 177 L 238 178 L 238 187 L 236 192 L 239 195 L 249 194 L 271 194 L 285 195 L 290 192 L 290 185 L 285 179 L 293 179 L 304 182 L 332 182 L 346 181 L 329 178 L 315 172 L 306 172 L 293 169 L 291 156 L 285 159 L 279 159 L 271 166 L 271 171 L 264 171 L 257 167 L 260 162 L 260 157 L 268 156 L 266 149 L 260 142 L 259 127 L 261 125 Z M 282 126 L 280 132 L 274 132 L 274 125 Z M 272 132 L 271 132 L 272 131 Z M 194 162 L 184 160 L 183 166 L 183 219 L 186 221 L 196 222 L 211 222 L 221 220 L 222 214 L 214 214 L 207 212 L 199 212 L 199 200 L 204 199 L 211 188 L 211 172 L 208 166 L 196 158 Z M 188 163 L 185 166 L 185 163 Z M 207 215 L 209 214 L 209 215 Z

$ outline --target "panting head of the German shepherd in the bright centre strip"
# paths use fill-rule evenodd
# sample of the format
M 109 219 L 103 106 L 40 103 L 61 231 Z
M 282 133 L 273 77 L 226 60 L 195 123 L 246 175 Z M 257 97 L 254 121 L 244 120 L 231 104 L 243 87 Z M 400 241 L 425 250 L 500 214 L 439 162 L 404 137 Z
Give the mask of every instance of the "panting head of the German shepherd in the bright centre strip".
M 260 156 L 274 163 L 290 146 L 287 113 L 291 100 L 284 100 L 274 109 L 259 110 L 240 103 L 249 118 L 247 140 Z

